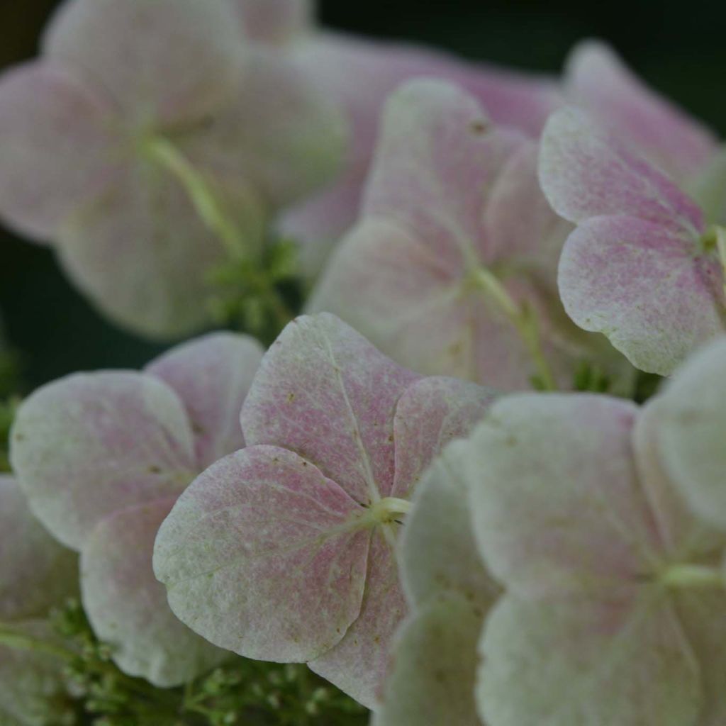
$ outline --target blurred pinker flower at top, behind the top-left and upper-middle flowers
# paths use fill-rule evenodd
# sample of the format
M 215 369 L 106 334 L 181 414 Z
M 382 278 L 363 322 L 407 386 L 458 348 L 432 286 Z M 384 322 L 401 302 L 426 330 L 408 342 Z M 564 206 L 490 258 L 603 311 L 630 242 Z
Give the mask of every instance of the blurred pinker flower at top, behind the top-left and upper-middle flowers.
M 380 114 L 388 96 L 404 81 L 435 76 L 460 83 L 497 123 L 539 135 L 560 105 L 554 79 L 526 76 L 409 44 L 386 43 L 320 30 L 310 0 L 236 0 L 253 37 L 287 52 L 306 78 L 337 100 L 351 126 L 346 168 L 329 188 L 303 200 L 280 221 L 302 242 L 301 261 L 318 274 L 335 242 L 353 226 L 375 150 Z

